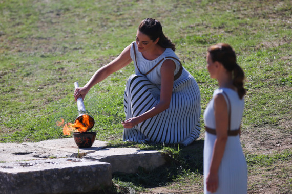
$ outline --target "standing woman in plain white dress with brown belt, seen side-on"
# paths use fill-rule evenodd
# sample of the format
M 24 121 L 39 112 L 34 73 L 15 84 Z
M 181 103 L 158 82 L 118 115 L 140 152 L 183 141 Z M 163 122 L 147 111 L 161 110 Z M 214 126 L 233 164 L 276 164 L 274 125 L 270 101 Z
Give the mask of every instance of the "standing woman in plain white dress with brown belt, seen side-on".
M 207 68 L 219 88 L 204 112 L 204 193 L 247 193 L 247 164 L 240 144 L 246 90 L 233 48 L 208 48 Z

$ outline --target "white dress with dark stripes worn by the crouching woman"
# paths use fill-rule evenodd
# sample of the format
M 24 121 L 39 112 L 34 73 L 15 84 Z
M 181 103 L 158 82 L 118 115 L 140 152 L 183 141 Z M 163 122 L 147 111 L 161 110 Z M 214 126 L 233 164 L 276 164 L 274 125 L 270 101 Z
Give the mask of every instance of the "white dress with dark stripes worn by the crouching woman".
M 133 46 L 135 46 L 135 52 Z M 171 48 L 166 48 L 162 55 L 150 61 L 145 59 L 142 53 L 138 51 L 135 42 L 132 44 L 131 58 L 134 61 L 135 74 L 128 78 L 124 91 L 126 119 L 141 115 L 159 103 L 161 87 L 160 68 L 166 57 L 178 59 Z M 182 68 L 181 75 L 173 84 L 169 108 L 152 118 L 144 120 L 144 122 L 131 129 L 124 128 L 124 141 L 165 144 L 180 143 L 186 146 L 199 137 L 201 114 L 199 87 L 193 76 L 180 65 L 179 61 L 173 58 L 168 59 L 172 59 L 175 62 L 175 75 Z M 161 61 L 159 65 L 149 74 L 143 75 L 159 61 Z

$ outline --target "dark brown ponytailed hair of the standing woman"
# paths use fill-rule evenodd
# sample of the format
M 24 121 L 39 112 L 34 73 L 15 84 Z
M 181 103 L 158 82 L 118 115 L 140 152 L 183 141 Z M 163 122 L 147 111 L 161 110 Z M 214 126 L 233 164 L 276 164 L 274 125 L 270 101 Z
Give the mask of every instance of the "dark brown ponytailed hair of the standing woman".
M 232 72 L 233 85 L 237 88 L 240 99 L 246 94 L 243 87 L 244 72 L 236 63 L 236 55 L 233 48 L 229 44 L 219 43 L 208 48 L 212 62 L 218 61 L 227 71 Z

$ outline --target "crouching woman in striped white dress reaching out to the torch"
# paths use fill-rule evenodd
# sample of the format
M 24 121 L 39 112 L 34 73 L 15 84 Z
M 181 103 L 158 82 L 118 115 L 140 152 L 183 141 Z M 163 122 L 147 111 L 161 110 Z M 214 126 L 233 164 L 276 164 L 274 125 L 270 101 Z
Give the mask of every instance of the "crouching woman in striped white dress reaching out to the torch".
M 160 22 L 144 19 L 136 41 L 77 88 L 75 99 L 84 98 L 93 85 L 134 61 L 135 74 L 128 78 L 124 92 L 123 140 L 186 146 L 200 134 L 200 90 L 174 51 Z

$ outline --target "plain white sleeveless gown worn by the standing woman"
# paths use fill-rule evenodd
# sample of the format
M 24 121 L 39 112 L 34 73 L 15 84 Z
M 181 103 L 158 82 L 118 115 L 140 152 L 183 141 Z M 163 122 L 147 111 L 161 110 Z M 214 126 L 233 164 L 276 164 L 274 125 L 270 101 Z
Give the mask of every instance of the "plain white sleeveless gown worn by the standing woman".
M 231 103 L 231 130 L 239 129 L 244 108 L 244 99 L 239 99 L 237 92 L 229 88 L 216 89 L 213 98 L 204 112 L 205 126 L 216 129 L 214 116 L 214 96 L 224 91 Z M 224 95 L 223 95 L 224 96 Z M 225 96 L 224 96 L 225 98 Z M 228 105 L 228 100 L 225 98 Z M 204 141 L 204 193 L 206 189 L 206 177 L 210 170 L 211 159 L 216 135 L 205 133 Z M 240 144 L 239 135 L 228 136 L 224 155 L 219 167 L 219 186 L 216 194 L 241 194 L 247 193 L 247 164 Z

